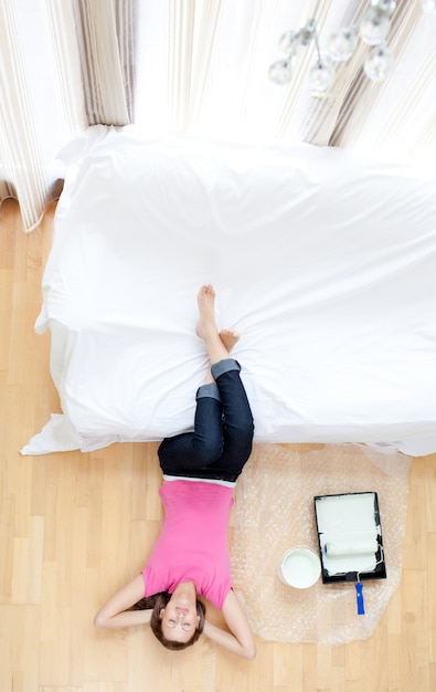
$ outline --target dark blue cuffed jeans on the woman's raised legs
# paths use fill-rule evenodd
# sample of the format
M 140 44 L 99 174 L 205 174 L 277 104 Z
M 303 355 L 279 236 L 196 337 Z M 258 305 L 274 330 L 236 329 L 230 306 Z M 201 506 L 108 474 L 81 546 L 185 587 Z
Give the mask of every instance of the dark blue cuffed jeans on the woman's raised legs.
M 194 431 L 166 438 L 158 450 L 168 475 L 236 481 L 253 445 L 254 423 L 237 360 L 212 366 L 215 382 L 196 391 Z

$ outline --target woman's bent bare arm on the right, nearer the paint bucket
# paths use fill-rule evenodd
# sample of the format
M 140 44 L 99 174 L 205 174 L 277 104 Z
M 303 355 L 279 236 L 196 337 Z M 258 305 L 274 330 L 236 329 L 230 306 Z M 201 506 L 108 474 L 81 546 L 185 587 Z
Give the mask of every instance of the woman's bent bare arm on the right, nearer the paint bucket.
M 247 616 L 233 590 L 228 593 L 222 612 L 231 631 L 226 632 L 206 620 L 204 635 L 227 651 L 253 661 L 256 658 L 256 642 Z

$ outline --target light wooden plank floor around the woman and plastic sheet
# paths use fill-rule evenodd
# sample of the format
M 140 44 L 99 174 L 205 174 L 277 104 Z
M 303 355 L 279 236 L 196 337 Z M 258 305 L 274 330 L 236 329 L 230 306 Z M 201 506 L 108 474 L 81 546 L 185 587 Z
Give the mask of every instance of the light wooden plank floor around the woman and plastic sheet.
M 143 566 L 160 475 L 151 443 L 19 453 L 59 411 L 49 335 L 33 331 L 53 211 L 30 234 L 14 202 L 0 211 L 0 692 L 434 692 L 436 455 L 413 461 L 402 583 L 371 639 L 259 641 L 245 662 L 206 641 L 171 653 L 148 629 L 94 629 Z

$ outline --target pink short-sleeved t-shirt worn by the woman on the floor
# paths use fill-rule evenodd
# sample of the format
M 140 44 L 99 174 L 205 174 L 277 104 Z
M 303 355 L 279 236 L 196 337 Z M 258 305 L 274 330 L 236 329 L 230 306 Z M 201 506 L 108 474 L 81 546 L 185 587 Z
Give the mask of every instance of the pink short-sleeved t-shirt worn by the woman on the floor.
M 232 588 L 228 520 L 233 487 L 201 481 L 164 481 L 161 532 L 142 572 L 145 596 L 172 594 L 182 581 L 221 610 Z

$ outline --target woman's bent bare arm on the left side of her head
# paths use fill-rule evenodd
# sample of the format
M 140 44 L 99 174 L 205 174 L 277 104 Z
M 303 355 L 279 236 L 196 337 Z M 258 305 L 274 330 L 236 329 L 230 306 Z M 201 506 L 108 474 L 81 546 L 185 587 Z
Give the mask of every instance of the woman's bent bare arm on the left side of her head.
M 142 575 L 124 586 L 98 610 L 94 618 L 95 627 L 131 627 L 150 622 L 151 610 L 128 610 L 143 598 Z

